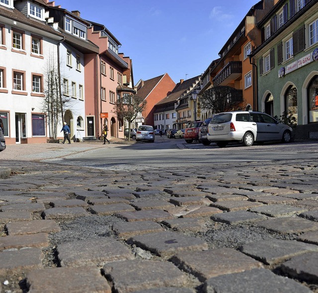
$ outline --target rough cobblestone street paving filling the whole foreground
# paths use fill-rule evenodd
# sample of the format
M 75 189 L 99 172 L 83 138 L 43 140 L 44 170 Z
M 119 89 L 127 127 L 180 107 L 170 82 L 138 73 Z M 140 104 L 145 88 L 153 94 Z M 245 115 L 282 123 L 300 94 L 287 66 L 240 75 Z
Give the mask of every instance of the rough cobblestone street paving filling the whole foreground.
M 131 173 L 31 154 L 1 162 L 0 293 L 318 293 L 317 161 Z

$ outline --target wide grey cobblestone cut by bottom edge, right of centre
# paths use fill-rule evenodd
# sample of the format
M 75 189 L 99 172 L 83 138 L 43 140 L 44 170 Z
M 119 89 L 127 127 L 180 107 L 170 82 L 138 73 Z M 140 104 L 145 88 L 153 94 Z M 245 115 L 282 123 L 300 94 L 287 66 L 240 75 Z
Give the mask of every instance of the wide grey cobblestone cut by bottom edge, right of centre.
M 254 269 L 209 279 L 204 293 L 312 293 L 294 280 L 277 276 L 269 270 Z

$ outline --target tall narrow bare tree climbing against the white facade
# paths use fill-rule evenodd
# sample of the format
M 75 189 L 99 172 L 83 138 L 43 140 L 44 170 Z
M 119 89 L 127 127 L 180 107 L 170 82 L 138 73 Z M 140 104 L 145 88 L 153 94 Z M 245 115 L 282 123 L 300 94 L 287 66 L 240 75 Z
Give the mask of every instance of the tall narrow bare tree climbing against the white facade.
M 63 123 L 63 106 L 70 104 L 71 98 L 61 93 L 59 67 L 53 54 L 44 71 L 44 88 L 45 97 L 42 100 L 42 111 L 48 116 L 49 136 L 56 140 L 59 132 L 58 125 Z

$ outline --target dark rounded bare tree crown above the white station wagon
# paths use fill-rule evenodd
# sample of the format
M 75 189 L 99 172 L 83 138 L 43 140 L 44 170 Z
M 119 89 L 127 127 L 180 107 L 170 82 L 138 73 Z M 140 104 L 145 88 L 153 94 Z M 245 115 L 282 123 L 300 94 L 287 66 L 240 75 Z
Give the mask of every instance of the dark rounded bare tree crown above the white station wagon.
M 200 108 L 214 113 L 244 109 L 242 90 L 232 86 L 216 86 L 207 89 L 199 98 Z

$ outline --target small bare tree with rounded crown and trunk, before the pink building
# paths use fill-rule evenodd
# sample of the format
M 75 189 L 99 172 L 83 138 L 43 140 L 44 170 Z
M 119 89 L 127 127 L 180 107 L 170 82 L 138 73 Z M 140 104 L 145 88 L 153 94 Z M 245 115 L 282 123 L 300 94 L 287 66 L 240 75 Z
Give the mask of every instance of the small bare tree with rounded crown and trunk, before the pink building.
M 130 129 L 132 122 L 136 119 L 139 113 L 146 109 L 147 101 L 138 95 L 124 95 L 117 99 L 113 113 L 117 114 L 118 119 L 126 120 L 129 124 L 128 140 L 130 141 Z

